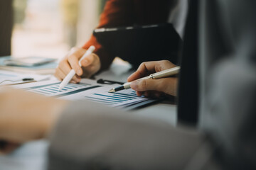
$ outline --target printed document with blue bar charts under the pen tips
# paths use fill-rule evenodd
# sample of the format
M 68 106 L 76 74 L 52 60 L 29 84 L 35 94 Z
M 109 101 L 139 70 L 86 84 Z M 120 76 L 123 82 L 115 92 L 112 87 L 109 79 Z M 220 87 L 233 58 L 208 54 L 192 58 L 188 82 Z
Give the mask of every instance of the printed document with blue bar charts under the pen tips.
M 59 81 L 42 81 L 37 83 L 16 86 L 26 91 L 31 91 L 45 96 L 54 96 L 70 101 L 94 101 L 111 107 L 132 109 L 153 103 L 156 100 L 139 97 L 132 89 L 109 93 L 114 85 L 97 84 L 90 79 L 82 79 L 80 84 L 68 84 L 58 91 Z

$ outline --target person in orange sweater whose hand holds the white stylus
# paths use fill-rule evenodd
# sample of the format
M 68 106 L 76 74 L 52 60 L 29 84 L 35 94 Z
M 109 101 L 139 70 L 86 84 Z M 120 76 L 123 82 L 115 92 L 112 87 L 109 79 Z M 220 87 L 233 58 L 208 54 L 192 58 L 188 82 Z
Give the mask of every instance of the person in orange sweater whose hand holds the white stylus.
M 97 28 L 143 26 L 167 23 L 169 22 L 169 16 L 173 13 L 175 6 L 177 6 L 177 0 L 109 0 L 105 4 L 105 8 L 100 16 L 100 22 Z M 178 24 L 178 26 L 180 25 L 182 24 Z M 178 44 L 179 42 L 176 43 Z M 94 45 L 96 47 L 95 53 L 88 56 L 81 62 L 81 68 L 78 65 L 78 60 L 90 45 Z M 55 70 L 55 77 L 59 80 L 63 80 L 71 69 L 75 69 L 76 75 L 72 82 L 78 83 L 81 77 L 92 77 L 92 75 L 99 72 L 99 70 L 104 70 L 110 67 L 114 57 L 117 56 L 112 55 L 105 47 L 97 42 L 95 36 L 92 35 L 85 45 L 82 47 L 74 47 L 60 62 L 58 68 Z M 144 61 L 149 61 L 146 60 L 146 58 L 149 57 L 152 56 L 141 56 L 140 58 L 144 58 Z M 166 56 L 161 56 L 161 51 L 159 51 L 159 55 L 153 56 L 152 58 L 155 60 L 163 60 L 166 59 Z

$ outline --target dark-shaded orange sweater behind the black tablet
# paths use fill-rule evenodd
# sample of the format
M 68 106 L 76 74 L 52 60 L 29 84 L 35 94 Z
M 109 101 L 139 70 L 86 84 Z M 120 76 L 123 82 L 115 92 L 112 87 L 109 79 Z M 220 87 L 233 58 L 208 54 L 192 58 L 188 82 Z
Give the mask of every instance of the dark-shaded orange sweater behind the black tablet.
M 97 28 L 112 28 L 134 25 L 166 23 L 171 6 L 176 0 L 109 0 L 100 16 Z M 111 55 L 92 35 L 82 47 L 95 45 L 95 53 L 100 57 L 101 69 L 107 69 L 115 56 Z

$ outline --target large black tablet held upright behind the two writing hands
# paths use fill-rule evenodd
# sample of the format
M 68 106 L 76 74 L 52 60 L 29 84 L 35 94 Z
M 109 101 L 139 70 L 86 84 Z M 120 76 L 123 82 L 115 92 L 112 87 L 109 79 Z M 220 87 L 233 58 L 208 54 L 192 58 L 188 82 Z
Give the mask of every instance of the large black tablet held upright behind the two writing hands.
M 128 61 L 134 68 L 152 60 L 178 61 L 181 38 L 171 23 L 99 28 L 93 35 L 113 57 Z

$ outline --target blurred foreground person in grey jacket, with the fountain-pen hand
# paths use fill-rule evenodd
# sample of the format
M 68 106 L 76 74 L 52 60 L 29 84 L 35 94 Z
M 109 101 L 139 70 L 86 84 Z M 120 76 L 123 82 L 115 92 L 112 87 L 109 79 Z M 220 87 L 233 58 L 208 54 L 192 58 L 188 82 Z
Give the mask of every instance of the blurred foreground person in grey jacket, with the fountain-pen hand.
M 48 137 L 48 169 L 255 169 L 255 7 L 250 0 L 191 1 L 183 50 L 193 53 L 183 52 L 178 88 L 188 87 L 186 81 L 199 86 L 192 90 L 198 92 L 194 100 L 200 110 L 183 101 L 186 96 L 178 96 L 183 99 L 178 105 L 200 112 L 198 130 L 89 101 L 1 88 L 0 138 L 22 143 Z M 160 63 L 142 64 L 129 79 L 150 64 L 168 62 Z M 149 88 L 154 83 L 134 81 L 132 88 L 164 91 L 169 86 Z

